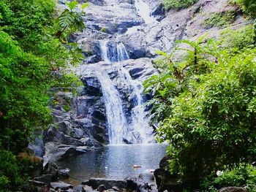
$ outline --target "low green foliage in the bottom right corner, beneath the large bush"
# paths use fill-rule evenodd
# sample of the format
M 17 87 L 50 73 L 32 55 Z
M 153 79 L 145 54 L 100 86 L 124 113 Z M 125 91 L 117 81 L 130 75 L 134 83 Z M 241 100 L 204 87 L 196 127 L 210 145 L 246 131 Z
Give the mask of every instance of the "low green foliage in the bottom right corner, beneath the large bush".
M 228 186 L 243 186 L 247 191 L 256 191 L 256 169 L 251 165 L 240 165 L 234 169 L 227 169 L 219 177 L 211 175 L 201 183 L 201 191 L 217 191 Z

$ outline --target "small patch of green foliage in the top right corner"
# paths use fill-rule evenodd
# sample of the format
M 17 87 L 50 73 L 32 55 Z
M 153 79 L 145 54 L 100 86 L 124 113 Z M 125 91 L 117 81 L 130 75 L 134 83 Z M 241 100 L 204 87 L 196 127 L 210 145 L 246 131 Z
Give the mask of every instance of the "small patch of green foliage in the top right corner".
M 256 18 L 256 2 L 254 0 L 233 0 L 233 2 L 240 5 L 246 15 Z

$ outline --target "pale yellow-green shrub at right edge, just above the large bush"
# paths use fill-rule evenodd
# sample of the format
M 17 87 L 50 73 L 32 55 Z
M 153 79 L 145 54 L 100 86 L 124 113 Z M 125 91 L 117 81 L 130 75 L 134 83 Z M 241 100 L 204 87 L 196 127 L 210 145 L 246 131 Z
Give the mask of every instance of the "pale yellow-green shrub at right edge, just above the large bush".
M 252 25 L 244 26 L 236 30 L 226 29 L 222 31 L 221 41 L 223 47 L 242 49 L 255 44 L 256 33 Z

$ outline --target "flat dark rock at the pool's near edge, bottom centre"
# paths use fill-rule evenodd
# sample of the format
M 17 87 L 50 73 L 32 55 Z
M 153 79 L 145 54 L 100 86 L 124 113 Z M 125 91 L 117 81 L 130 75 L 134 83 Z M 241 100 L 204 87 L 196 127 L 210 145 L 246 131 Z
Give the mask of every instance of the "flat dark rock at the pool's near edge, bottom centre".
M 89 185 L 94 189 L 97 189 L 99 185 L 104 185 L 105 189 L 113 188 L 113 186 L 116 186 L 117 188 L 127 188 L 127 181 L 91 178 L 88 182 L 86 182 L 86 185 Z

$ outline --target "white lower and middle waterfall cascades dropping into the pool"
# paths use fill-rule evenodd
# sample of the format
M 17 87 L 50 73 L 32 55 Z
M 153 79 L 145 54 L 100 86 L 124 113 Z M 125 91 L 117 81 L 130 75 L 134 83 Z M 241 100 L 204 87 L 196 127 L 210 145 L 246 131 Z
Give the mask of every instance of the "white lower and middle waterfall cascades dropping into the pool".
M 110 144 L 121 144 L 125 140 L 135 143 L 151 142 L 153 140 L 152 130 L 148 125 L 143 107 L 143 85 L 137 80 L 132 80 L 124 66 L 114 63 L 129 59 L 124 44 L 104 41 L 100 42 L 100 45 L 102 46 L 102 58 L 107 64 L 103 67 L 92 65 L 91 73 L 97 77 L 102 87 Z M 116 72 L 117 79 L 110 78 L 111 72 Z M 120 86 L 128 90 L 132 97 L 133 107 L 129 112 L 129 117 L 124 111 L 125 104 L 120 90 L 118 91 Z

